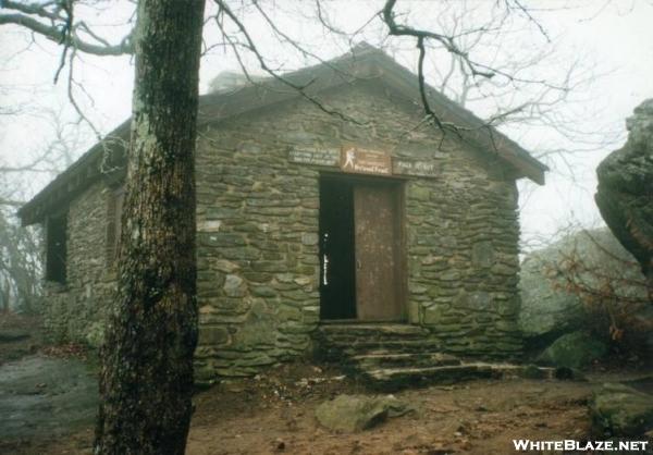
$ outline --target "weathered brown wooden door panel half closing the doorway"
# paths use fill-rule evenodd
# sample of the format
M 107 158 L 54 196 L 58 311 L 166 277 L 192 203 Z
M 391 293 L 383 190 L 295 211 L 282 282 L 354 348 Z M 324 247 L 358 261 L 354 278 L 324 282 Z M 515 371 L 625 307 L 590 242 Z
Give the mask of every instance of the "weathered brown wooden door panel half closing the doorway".
M 356 312 L 360 320 L 403 319 L 401 232 L 394 185 L 354 187 Z

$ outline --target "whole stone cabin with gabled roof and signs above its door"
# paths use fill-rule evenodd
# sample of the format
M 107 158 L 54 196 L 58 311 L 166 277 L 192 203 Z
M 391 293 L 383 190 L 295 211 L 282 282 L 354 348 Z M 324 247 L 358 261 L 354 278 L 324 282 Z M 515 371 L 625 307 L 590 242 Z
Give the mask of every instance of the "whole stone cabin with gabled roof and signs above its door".
M 330 333 L 518 356 L 516 181 L 543 184 L 546 167 L 434 89 L 459 128 L 426 124 L 416 75 L 368 45 L 285 77 L 307 96 L 263 79 L 200 98 L 198 380 L 256 373 Z M 127 121 L 19 212 L 45 226 L 59 340 L 101 337 L 128 134 Z

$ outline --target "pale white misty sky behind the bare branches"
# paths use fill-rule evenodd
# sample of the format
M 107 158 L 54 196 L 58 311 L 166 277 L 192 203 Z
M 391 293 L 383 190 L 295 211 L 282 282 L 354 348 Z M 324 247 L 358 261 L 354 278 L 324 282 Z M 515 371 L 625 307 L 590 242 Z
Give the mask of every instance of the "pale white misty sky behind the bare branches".
M 210 3 L 210 2 L 209 2 Z M 321 58 L 329 59 L 346 52 L 348 42 L 329 36 L 319 27 L 310 11 L 305 8 L 312 2 L 270 2 L 271 12 L 280 29 L 306 44 Z M 463 1 L 399 1 L 407 15 L 402 16 L 411 24 L 438 27 L 439 21 L 446 22 L 455 14 Z M 490 1 L 468 1 L 472 13 L 466 14 L 469 27 L 473 21 L 482 21 L 484 8 Z M 563 153 L 550 158 L 553 169 L 544 187 L 526 185 L 521 195 L 521 224 L 527 239 L 547 238 L 560 225 L 572 221 L 584 225 L 600 223 L 593 204 L 595 189 L 594 169 L 607 152 L 618 148 L 625 139 L 625 119 L 632 109 L 646 98 L 653 97 L 653 3 L 645 0 L 604 1 L 528 1 L 537 7 L 533 14 L 543 26 L 546 36 L 528 21 L 515 23 L 510 35 L 502 40 L 502 52 L 521 59 L 537 56 L 542 49 L 552 50 L 553 57 L 538 67 L 545 77 L 558 77 L 559 72 L 578 65 L 582 79 L 581 89 L 574 94 L 562 122 L 582 130 L 592 146 L 580 144 L 575 138 L 559 135 L 529 124 L 507 125 L 502 131 L 530 150 L 560 148 L 563 150 L 588 149 L 581 153 Z M 352 32 L 365 24 L 380 9 L 382 2 L 360 1 L 328 2 L 329 19 L 338 27 Z M 101 11 L 93 12 L 88 22 L 110 41 L 120 41 L 125 34 L 124 25 L 130 20 L 132 4 L 127 1 L 99 3 Z M 401 9 L 399 9 L 401 10 Z M 401 10 L 403 11 L 403 10 Z M 79 14 L 84 11 L 79 12 Z M 275 67 L 294 70 L 312 63 L 271 38 L 270 30 L 256 12 L 248 15 L 248 26 L 263 54 Z M 354 41 L 366 40 L 374 46 L 387 46 L 402 64 L 415 70 L 415 46 L 409 40 L 386 39 L 380 22 L 372 21 Z M 214 29 L 207 28 L 207 42 L 215 41 Z M 490 49 L 490 48 L 488 48 Z M 486 57 L 488 49 L 479 49 L 478 60 Z M 38 156 L 54 137 L 53 119 L 59 119 L 67 133 L 83 132 L 75 145 L 76 155 L 84 152 L 94 140 L 90 128 L 67 122 L 77 119 L 67 101 L 67 65 L 57 85 L 52 79 L 59 66 L 61 49 L 44 39 L 32 39 L 29 34 L 17 27 L 0 27 L 0 97 L 1 104 L 16 109 L 14 115 L 0 116 L 1 163 L 20 164 Z M 433 51 L 430 71 L 446 57 Z M 108 133 L 124 121 L 131 111 L 133 65 L 128 57 L 97 58 L 79 56 L 76 61 L 72 86 L 85 115 L 99 132 Z M 252 58 L 246 59 L 251 73 L 260 74 Z M 440 67 L 441 69 L 441 67 Z M 204 60 L 200 72 L 200 91 L 219 72 L 238 70 L 237 61 L 224 48 L 213 49 Z M 434 73 L 429 75 L 434 81 Z M 479 115 L 486 115 L 493 103 L 479 100 L 470 108 Z M 588 134 L 590 131 L 592 134 Z M 588 139 L 589 142 L 589 139 Z M 599 144 L 599 145 L 596 145 Z M 50 173 L 35 173 L 22 182 L 24 197 L 40 189 Z

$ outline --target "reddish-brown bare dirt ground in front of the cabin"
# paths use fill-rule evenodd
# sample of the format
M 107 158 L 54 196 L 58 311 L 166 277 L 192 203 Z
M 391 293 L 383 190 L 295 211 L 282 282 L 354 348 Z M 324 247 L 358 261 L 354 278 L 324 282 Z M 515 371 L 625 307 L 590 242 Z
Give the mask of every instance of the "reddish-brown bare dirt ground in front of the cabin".
M 49 394 L 47 385 L 39 389 L 38 383 L 24 382 L 22 392 L 19 390 L 23 397 L 42 395 L 50 406 L 32 414 L 39 415 L 39 425 L 19 422 L 10 430 L 0 430 L 0 453 L 90 454 L 97 392 L 89 390 L 95 388 L 96 378 L 88 367 L 75 369 L 88 361 L 72 348 L 52 352 L 42 346 L 22 351 L 27 357 L 21 360 L 9 356 L 8 361 L 5 353 L 12 349 L 7 342 L 0 344 L 4 345 L 0 347 L 3 427 L 20 420 L 3 396 L 13 392 L 14 404 L 21 396 L 16 396 L 15 386 L 13 391 L 2 389 L 8 389 L 7 378 L 15 378 L 16 370 L 25 370 L 26 364 L 33 371 L 41 368 L 39 374 L 47 374 L 42 368 L 61 371 L 63 365 L 76 384 L 76 389 L 65 391 L 71 383 L 56 377 L 59 393 Z M 39 354 L 34 355 L 35 349 Z M 404 391 L 395 396 L 415 411 L 365 432 L 338 434 L 318 423 L 316 407 L 342 393 L 367 393 L 365 389 L 331 367 L 284 365 L 254 379 L 233 380 L 199 392 L 187 454 L 510 454 L 515 453 L 514 439 L 588 438 L 587 402 L 601 379 L 482 380 Z M 62 406 L 54 402 L 63 393 L 67 393 L 63 395 L 65 402 L 77 403 L 65 417 Z

